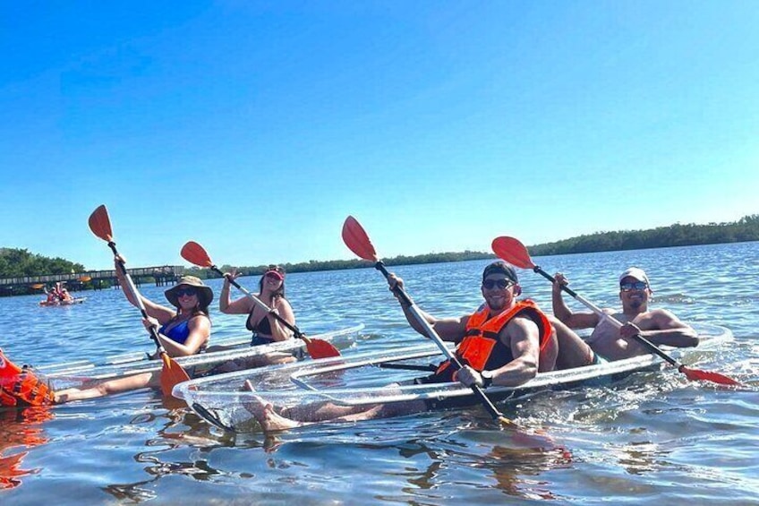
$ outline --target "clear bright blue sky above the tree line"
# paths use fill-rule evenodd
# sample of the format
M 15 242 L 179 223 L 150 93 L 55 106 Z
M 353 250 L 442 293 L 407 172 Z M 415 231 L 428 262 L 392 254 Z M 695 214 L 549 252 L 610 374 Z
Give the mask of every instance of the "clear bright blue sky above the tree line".
M 0 246 L 132 266 L 488 251 L 759 212 L 759 4 L 0 6 Z

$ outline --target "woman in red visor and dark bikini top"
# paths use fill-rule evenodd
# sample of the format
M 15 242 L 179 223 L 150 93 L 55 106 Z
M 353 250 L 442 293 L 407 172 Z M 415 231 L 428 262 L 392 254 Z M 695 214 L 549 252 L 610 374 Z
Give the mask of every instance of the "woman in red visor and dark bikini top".
M 224 285 L 221 287 L 221 295 L 218 297 L 218 309 L 225 314 L 245 314 L 245 328 L 252 332 L 251 346 L 268 345 L 271 343 L 293 339 L 293 332 L 277 320 L 273 313 L 277 313 L 282 319 L 294 326 L 295 315 L 293 307 L 285 297 L 286 272 L 278 265 L 269 265 L 259 281 L 258 299 L 271 308 L 271 312 L 260 307 L 249 296 L 243 296 L 235 301 L 229 295 L 229 279 L 236 279 L 240 273 L 233 270 L 227 272 L 224 277 Z M 217 351 L 221 347 L 213 347 L 211 351 Z M 284 353 L 272 353 L 266 356 L 255 357 L 256 364 L 283 364 L 293 362 L 294 356 Z M 241 366 L 243 364 L 240 364 Z

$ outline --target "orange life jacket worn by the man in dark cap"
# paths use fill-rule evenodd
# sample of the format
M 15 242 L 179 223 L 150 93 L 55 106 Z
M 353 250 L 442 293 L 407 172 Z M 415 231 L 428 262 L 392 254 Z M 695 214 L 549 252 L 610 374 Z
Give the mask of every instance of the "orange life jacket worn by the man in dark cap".
M 539 361 L 548 362 L 553 328 L 548 317 L 530 299 L 518 301 L 511 309 L 492 318 L 490 318 L 490 309 L 487 305 L 470 316 L 466 322 L 465 337 L 456 347 L 456 356 L 459 361 L 477 371 L 485 371 L 498 369 L 514 360 L 511 348 L 500 341 L 499 333 L 508 322 L 525 312 L 538 325 L 541 347 Z M 448 360 L 443 362 L 439 365 L 436 374 L 443 374 L 446 370 L 448 370 L 447 373 L 453 374 L 450 365 Z M 548 369 L 551 368 L 552 366 Z

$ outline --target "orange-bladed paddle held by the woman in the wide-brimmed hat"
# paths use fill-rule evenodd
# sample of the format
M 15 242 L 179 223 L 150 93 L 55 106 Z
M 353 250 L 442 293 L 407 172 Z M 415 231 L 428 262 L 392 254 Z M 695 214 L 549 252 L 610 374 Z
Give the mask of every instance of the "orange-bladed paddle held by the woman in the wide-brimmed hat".
M 148 318 L 148 312 L 145 311 L 145 304 L 142 304 L 140 292 L 138 292 L 137 287 L 134 286 L 132 276 L 126 271 L 124 261 L 121 260 L 118 251 L 116 251 L 116 244 L 114 242 L 113 232 L 111 231 L 111 220 L 108 218 L 108 210 L 106 209 L 105 204 L 92 211 L 92 214 L 90 215 L 90 230 L 92 230 L 93 234 L 106 241 L 108 247 L 114 252 L 114 256 L 118 259 L 117 263 L 119 270 L 124 274 L 126 286 L 129 288 L 134 300 L 137 301 L 137 306 L 140 308 L 142 318 Z M 163 361 L 163 367 L 161 368 L 161 391 L 163 391 L 164 395 L 170 396 L 175 385 L 189 381 L 190 376 L 184 371 L 180 364 L 177 364 L 172 357 L 168 356 L 166 349 L 164 349 L 163 345 L 161 345 L 161 341 L 158 339 L 158 330 L 151 326 L 149 327 L 149 333 L 150 338 L 156 343 L 158 354 Z

